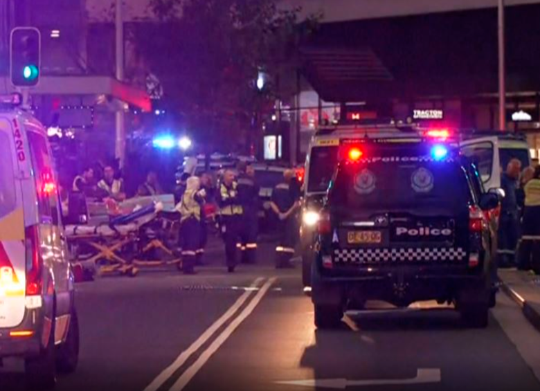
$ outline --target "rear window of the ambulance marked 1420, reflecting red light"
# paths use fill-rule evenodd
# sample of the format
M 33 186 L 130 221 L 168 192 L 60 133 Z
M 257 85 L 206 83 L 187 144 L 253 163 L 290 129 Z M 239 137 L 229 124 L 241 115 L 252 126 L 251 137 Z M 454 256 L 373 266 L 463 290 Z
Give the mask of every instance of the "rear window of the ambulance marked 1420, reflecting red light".
M 28 131 L 28 143 L 32 156 L 35 186 L 37 190 L 37 206 L 39 219 L 58 225 L 58 197 L 53 174 L 53 163 L 48 153 L 47 142 L 43 136 Z

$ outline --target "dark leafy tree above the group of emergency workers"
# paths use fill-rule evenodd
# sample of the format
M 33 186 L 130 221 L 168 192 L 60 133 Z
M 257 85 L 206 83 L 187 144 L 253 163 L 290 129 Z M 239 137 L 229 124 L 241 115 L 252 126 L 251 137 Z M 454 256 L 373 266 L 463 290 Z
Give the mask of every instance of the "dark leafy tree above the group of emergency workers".
M 229 150 L 271 107 L 276 77 L 315 20 L 298 24 L 300 10 L 276 0 L 152 0 L 150 11 L 154 21 L 130 29 L 138 52 L 199 142 Z M 271 76 L 262 91 L 259 72 Z

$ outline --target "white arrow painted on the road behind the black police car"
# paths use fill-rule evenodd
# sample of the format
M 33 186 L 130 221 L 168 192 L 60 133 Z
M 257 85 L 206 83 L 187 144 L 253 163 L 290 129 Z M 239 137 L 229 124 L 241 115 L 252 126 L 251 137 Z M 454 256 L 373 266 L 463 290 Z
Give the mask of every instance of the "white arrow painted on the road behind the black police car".
M 298 387 L 310 388 L 332 388 L 334 390 L 345 390 L 348 387 L 366 387 L 369 385 L 407 385 L 440 383 L 440 370 L 420 369 L 417 370 L 413 379 L 373 379 L 373 380 L 347 380 L 347 379 L 312 379 L 297 381 L 276 381 L 281 385 L 297 385 Z

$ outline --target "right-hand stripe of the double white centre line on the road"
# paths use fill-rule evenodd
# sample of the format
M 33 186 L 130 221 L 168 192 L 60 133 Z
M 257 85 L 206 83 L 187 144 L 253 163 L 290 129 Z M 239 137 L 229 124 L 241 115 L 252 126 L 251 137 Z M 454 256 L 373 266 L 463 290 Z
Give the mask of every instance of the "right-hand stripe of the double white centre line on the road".
M 249 302 L 248 306 L 244 308 L 244 310 L 238 315 L 233 322 L 231 322 L 230 325 L 227 326 L 226 329 L 222 332 L 222 334 L 219 334 L 217 338 L 213 341 L 213 343 L 206 349 L 201 356 L 191 365 L 186 372 L 183 372 L 182 376 L 177 380 L 174 385 L 172 385 L 172 388 L 170 388 L 170 391 L 181 391 L 183 388 L 188 385 L 188 383 L 193 379 L 193 376 L 201 370 L 201 367 L 206 364 L 206 362 L 210 359 L 210 357 L 217 352 L 217 349 L 223 345 L 223 343 L 235 332 L 238 326 L 242 324 L 244 320 L 248 316 L 251 315 L 255 307 L 259 304 L 259 302 L 262 300 L 264 295 L 267 293 L 267 291 L 270 289 L 271 285 L 276 282 L 276 278 L 271 278 L 269 281 L 266 282 L 258 291 L 257 295 L 255 295 L 255 298 Z

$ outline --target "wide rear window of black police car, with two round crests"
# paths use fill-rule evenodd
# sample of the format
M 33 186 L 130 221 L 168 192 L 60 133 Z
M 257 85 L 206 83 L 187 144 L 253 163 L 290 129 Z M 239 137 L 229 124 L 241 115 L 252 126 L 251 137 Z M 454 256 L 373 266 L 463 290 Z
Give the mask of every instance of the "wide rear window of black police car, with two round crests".
M 334 205 L 354 209 L 444 208 L 471 200 L 467 174 L 458 163 L 370 163 L 343 166 L 332 186 Z

